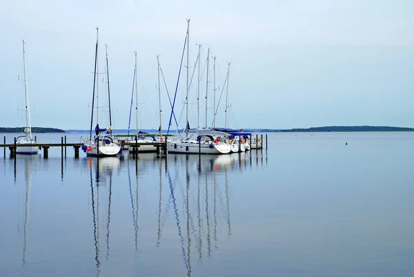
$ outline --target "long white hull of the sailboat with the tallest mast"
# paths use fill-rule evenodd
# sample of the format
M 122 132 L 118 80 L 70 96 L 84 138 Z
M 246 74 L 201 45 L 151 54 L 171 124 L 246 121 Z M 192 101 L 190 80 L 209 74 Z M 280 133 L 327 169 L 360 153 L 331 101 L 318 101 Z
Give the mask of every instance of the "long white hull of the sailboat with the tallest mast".
M 227 154 L 230 153 L 230 144 L 226 143 L 203 143 L 196 140 L 184 140 L 167 143 L 168 153 L 181 154 Z

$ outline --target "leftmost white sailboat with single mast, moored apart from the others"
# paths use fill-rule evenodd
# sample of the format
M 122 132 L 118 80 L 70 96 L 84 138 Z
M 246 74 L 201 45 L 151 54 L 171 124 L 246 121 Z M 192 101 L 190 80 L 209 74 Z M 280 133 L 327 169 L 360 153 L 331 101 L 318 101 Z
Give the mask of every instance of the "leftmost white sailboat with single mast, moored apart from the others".
M 29 91 L 28 91 L 28 77 L 26 73 L 26 52 L 24 50 L 24 40 L 23 40 L 23 66 L 24 66 L 24 93 L 26 95 L 26 128 L 24 128 L 24 134 L 17 137 L 16 144 L 24 145 L 16 147 L 17 154 L 26 154 L 32 155 L 37 154 L 39 151 L 38 146 L 32 146 L 36 143 L 32 139 L 32 128 L 30 125 L 30 106 L 29 106 Z

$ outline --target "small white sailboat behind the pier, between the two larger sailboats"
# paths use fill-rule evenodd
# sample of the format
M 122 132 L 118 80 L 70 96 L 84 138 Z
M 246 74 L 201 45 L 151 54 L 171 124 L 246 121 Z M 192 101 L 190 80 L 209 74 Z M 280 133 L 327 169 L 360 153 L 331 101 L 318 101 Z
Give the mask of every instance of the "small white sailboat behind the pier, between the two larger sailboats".
M 158 60 L 158 56 L 157 56 Z M 159 68 L 159 61 L 158 61 L 158 68 Z M 158 69 L 159 70 L 159 69 Z M 134 69 L 134 81 L 132 82 L 132 95 L 131 95 L 131 104 L 130 104 L 130 117 L 129 117 L 129 123 L 128 123 L 128 135 L 129 135 L 129 127 L 131 122 L 131 113 L 132 113 L 132 99 L 134 98 L 134 89 L 135 89 L 135 113 L 136 113 L 136 132 L 135 137 L 132 140 L 127 140 L 129 143 L 137 143 L 139 144 L 138 147 L 135 147 L 134 145 L 128 146 L 129 153 L 136 153 L 136 151 L 139 151 L 140 153 L 151 153 L 151 152 L 157 152 L 157 146 L 155 146 L 154 142 L 159 142 L 161 137 L 155 137 L 155 135 L 149 135 L 146 133 L 141 133 L 139 131 L 139 112 L 138 112 L 138 84 L 137 84 L 137 52 L 135 52 L 135 69 Z M 134 86 L 135 85 L 135 86 Z M 159 73 L 158 73 L 158 86 L 159 86 Z M 159 128 L 161 130 L 161 102 L 160 102 L 160 123 Z

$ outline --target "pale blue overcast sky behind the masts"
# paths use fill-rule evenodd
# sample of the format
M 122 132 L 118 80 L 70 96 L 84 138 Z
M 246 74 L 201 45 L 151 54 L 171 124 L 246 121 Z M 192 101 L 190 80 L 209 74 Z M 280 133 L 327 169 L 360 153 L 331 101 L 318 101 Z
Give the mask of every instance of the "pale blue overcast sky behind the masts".
M 24 39 L 32 126 L 90 127 L 99 26 L 99 125 L 109 124 L 103 74 L 107 44 L 112 128 L 128 128 L 134 51 L 139 128 L 159 127 L 157 55 L 166 84 L 161 77 L 161 124 L 167 128 L 167 89 L 172 99 L 190 19 L 191 128 L 197 127 L 198 79 L 201 127 L 206 125 L 207 84 L 208 126 L 215 87 L 217 127 L 224 127 L 226 95 L 228 128 L 414 127 L 413 14 L 412 0 L 3 1 L 0 126 L 26 124 L 24 86 L 18 79 Z M 186 118 L 185 65 L 186 55 L 175 102 L 180 128 Z M 135 118 L 134 110 L 131 128 Z

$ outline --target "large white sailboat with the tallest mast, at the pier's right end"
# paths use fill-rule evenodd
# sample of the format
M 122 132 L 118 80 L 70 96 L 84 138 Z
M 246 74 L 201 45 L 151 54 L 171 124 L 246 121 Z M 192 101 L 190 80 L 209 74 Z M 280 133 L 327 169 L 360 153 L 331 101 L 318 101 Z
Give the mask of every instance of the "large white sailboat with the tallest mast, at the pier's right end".
M 184 154 L 227 154 L 230 153 L 230 144 L 228 144 L 228 135 L 222 132 L 210 130 L 197 130 L 189 135 L 190 124 L 188 123 L 188 92 L 189 92 L 189 57 L 190 57 L 190 19 L 187 19 L 187 84 L 186 84 L 186 137 L 179 137 L 167 143 L 168 153 L 184 153 Z M 200 47 L 199 47 L 200 55 Z M 209 55 L 209 51 L 208 51 Z M 200 57 L 200 56 L 199 56 Z M 200 75 L 200 67 L 199 67 Z M 200 76 L 199 76 L 200 80 Z M 208 84 L 207 84 L 208 86 Z M 198 86 L 199 87 L 199 86 Z M 199 98 L 199 97 L 198 97 Z M 199 106 L 197 107 L 199 113 Z M 197 120 L 199 123 L 199 119 Z M 207 120 L 206 120 L 207 124 Z M 199 127 L 199 126 L 198 126 Z M 206 126 L 207 127 L 207 126 Z

